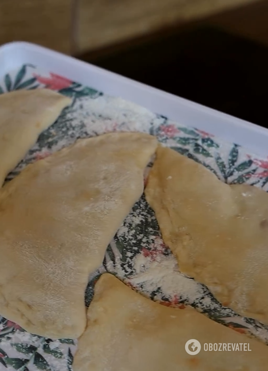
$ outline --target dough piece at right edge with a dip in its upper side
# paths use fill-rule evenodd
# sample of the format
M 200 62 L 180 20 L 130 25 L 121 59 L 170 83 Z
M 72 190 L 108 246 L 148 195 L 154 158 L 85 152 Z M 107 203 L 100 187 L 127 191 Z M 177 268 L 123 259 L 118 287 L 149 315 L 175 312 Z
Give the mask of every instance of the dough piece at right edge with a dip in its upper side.
M 145 195 L 180 270 L 224 305 L 268 323 L 268 193 L 224 184 L 159 146 Z

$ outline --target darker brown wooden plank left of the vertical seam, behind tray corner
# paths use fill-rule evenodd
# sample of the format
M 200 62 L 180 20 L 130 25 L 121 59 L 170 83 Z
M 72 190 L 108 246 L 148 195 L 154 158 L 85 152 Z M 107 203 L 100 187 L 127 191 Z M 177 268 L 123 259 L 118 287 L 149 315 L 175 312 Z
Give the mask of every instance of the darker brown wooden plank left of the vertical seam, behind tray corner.
M 29 41 L 71 53 L 72 0 L 0 0 L 0 44 Z

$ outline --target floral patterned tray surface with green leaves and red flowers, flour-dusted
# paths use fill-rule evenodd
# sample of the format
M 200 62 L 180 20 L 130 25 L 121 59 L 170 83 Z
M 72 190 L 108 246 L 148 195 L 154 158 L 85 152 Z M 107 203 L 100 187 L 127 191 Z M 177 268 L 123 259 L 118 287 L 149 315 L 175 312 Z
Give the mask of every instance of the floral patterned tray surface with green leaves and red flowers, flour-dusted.
M 268 190 L 268 159 L 261 159 L 233 143 L 181 126 L 160 114 L 109 97 L 95 89 L 26 64 L 0 80 L 0 93 L 47 87 L 73 99 L 58 120 L 43 132 L 26 158 L 8 175 L 16 176 L 28 163 L 49 156 L 77 138 L 111 131 L 142 131 L 188 156 L 228 184 L 247 183 Z M 102 267 L 89 280 L 85 303 L 89 305 L 94 282 L 109 271 L 152 300 L 183 309 L 191 305 L 208 317 L 268 344 L 268 326 L 242 318 L 223 307 L 208 288 L 179 272 L 176 259 L 161 239 L 154 212 L 144 195 L 134 205 L 107 248 Z M 0 317 L 0 371 L 71 371 L 76 342 L 31 335 Z

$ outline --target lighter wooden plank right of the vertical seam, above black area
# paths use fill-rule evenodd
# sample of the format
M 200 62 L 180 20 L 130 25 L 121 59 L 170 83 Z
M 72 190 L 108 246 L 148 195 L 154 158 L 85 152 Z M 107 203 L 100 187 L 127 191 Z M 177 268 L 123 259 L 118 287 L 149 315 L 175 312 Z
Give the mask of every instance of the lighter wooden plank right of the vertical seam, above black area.
M 80 53 L 257 0 L 80 0 Z

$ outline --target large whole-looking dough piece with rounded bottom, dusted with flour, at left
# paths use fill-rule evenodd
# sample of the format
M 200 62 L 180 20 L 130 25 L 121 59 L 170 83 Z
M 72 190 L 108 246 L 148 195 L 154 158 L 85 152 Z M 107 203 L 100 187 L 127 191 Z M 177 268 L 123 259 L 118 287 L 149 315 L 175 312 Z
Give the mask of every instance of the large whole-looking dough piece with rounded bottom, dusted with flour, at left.
M 88 275 L 143 191 L 157 140 L 80 139 L 0 191 L 0 314 L 47 338 L 77 338 Z

